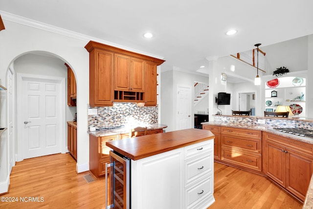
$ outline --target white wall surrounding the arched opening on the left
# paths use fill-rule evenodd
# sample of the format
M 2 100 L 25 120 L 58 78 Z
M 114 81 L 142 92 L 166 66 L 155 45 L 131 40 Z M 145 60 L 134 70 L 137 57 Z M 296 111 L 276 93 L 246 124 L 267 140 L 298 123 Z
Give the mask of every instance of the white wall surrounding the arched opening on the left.
M 8 67 L 19 56 L 30 51 L 46 51 L 66 62 L 74 71 L 77 83 L 77 171 L 89 170 L 89 135 L 87 134 L 87 104 L 89 103 L 89 53 L 87 40 L 13 23 L 3 19 L 0 32 L 0 79 L 6 85 Z M 5 81 L 5 82 L 4 82 Z M 5 116 L 5 117 L 3 117 Z M 6 124 L 6 106 L 1 110 L 1 124 Z M 1 136 L 1 139 L 2 136 Z M 1 181 L 7 181 L 2 178 Z

